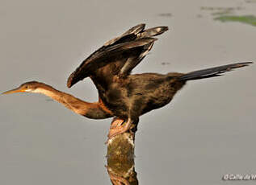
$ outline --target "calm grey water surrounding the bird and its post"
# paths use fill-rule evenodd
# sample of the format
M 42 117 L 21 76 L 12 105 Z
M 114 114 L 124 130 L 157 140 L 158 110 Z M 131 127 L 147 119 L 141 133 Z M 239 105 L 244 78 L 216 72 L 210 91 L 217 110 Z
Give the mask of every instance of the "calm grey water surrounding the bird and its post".
M 243 0 L 0 1 L 0 91 L 44 81 L 97 101 L 89 79 L 68 89 L 81 61 L 137 23 L 168 26 L 141 72 L 189 72 L 256 60 L 256 27 L 214 21 L 202 6 Z M 162 64 L 163 63 L 163 64 Z M 140 184 L 231 184 L 227 173 L 256 173 L 255 64 L 220 78 L 191 81 L 170 105 L 141 117 L 136 133 Z M 111 119 L 95 121 L 37 94 L 0 96 L 0 184 L 110 184 L 104 142 Z

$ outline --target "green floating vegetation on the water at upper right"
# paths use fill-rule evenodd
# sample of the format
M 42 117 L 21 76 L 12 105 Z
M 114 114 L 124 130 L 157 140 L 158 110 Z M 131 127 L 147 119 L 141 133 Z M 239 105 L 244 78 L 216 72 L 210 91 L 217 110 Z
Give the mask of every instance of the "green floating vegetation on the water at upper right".
M 215 20 L 220 20 L 221 22 L 233 21 L 233 22 L 246 23 L 256 27 L 256 16 L 254 15 L 243 15 L 243 16 L 222 15 L 220 17 L 215 18 Z

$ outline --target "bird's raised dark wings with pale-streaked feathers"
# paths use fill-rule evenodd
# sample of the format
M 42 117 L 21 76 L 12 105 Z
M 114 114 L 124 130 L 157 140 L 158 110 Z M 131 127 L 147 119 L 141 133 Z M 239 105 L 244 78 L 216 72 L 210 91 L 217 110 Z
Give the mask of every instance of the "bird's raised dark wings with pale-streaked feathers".
M 67 86 L 70 88 L 88 76 L 97 80 L 112 80 L 115 75 L 127 76 L 150 51 L 153 42 L 157 40 L 153 36 L 167 30 L 168 27 L 145 30 L 145 24 L 132 27 L 123 35 L 109 40 L 84 60 L 69 76 Z

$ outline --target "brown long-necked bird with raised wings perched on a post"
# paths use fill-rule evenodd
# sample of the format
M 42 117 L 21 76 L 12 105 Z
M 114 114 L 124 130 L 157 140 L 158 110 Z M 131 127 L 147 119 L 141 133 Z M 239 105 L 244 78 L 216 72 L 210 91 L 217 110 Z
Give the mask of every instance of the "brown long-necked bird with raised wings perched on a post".
M 6 93 L 43 93 L 85 117 L 93 119 L 118 117 L 119 119 L 116 120 L 119 122 L 113 123 L 116 128 L 114 131 L 111 130 L 109 136 L 111 138 L 130 129 L 132 123 L 137 123 L 142 114 L 168 104 L 187 80 L 220 76 L 233 68 L 251 64 L 250 62 L 229 64 L 189 73 L 131 75 L 132 69 L 153 47 L 153 43 L 157 40 L 154 36 L 161 35 L 167 30 L 168 27 L 153 27 L 145 30 L 145 24 L 139 24 L 123 35 L 111 39 L 82 62 L 69 76 L 67 86 L 70 88 L 79 80 L 90 77 L 99 92 L 98 102 L 79 100 L 36 81 L 27 82 Z M 125 123 L 120 124 L 120 119 Z

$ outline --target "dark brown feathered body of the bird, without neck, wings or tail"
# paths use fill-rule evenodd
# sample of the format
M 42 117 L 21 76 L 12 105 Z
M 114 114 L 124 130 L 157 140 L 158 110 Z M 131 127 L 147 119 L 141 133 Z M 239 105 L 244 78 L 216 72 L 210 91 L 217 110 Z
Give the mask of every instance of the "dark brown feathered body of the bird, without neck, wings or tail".
M 174 94 L 183 87 L 185 81 L 177 80 L 180 73 L 167 75 L 144 73 L 130 75 L 120 79 L 114 76 L 111 81 L 105 81 L 107 88 L 101 88 L 97 80 L 94 84 L 99 89 L 99 97 L 115 116 L 127 119 L 140 117 L 153 109 L 159 109 L 168 104 Z M 114 82 L 113 82 L 114 81 Z

